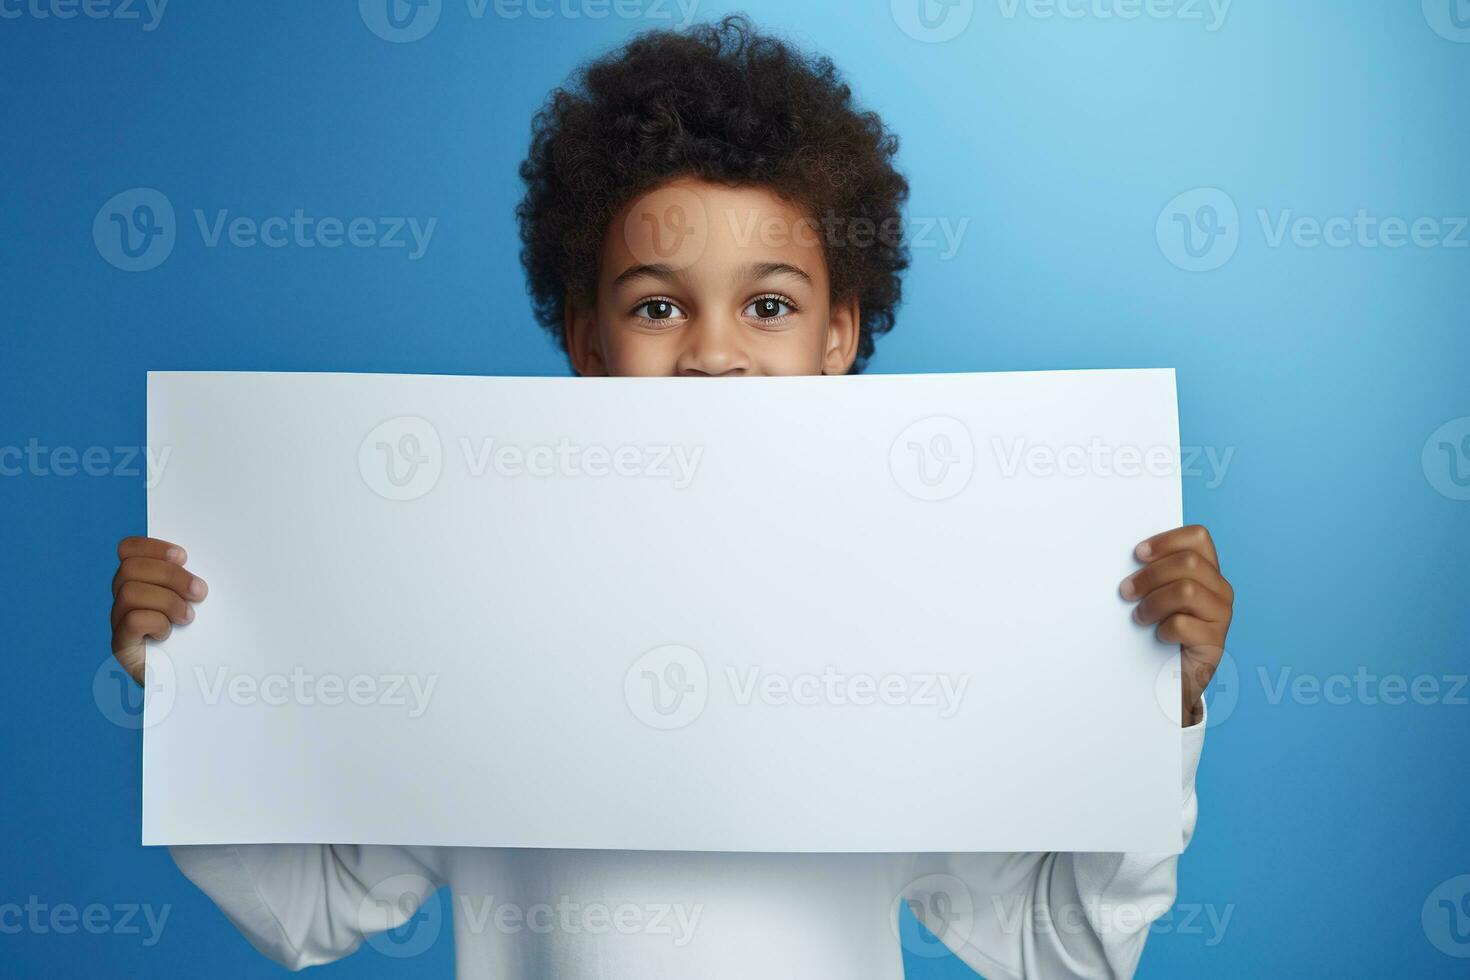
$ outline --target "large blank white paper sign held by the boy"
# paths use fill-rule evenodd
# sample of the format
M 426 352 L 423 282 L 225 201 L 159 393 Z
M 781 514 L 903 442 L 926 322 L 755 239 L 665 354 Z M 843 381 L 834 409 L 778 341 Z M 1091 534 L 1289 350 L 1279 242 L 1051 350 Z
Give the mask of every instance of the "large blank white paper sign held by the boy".
M 144 843 L 1180 849 L 1172 370 L 165 372 L 148 444 Z

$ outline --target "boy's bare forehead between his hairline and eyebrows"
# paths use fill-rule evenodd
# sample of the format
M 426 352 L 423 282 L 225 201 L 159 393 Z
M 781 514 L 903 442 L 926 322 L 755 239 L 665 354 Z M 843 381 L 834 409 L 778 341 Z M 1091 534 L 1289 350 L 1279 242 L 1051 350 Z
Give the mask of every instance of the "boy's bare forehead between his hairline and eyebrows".
M 763 187 L 682 178 L 632 200 L 607 228 L 600 279 L 662 264 L 691 276 L 785 263 L 826 276 L 820 226 Z

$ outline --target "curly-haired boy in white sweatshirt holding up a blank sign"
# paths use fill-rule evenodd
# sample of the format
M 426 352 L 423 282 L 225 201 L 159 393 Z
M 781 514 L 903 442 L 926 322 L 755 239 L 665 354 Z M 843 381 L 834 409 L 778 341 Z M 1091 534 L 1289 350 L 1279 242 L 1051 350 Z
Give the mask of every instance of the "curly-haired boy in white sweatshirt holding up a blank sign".
M 895 151 L 829 62 L 742 19 L 637 38 L 537 116 L 517 212 L 537 316 L 579 375 L 857 372 L 892 328 L 907 264 L 892 234 L 907 194 Z M 207 588 L 169 542 L 129 538 L 119 557 L 113 651 L 141 676 L 144 639 L 191 621 Z M 1183 649 L 1188 840 L 1200 695 L 1233 594 L 1202 527 L 1157 535 L 1136 557 L 1145 566 L 1122 595 Z M 293 968 L 422 915 L 448 884 L 460 977 L 573 980 L 897 979 L 901 899 L 991 980 L 1129 976 L 1148 924 L 1173 902 L 1177 862 L 334 845 L 172 855 L 251 943 Z M 632 914 L 619 924 L 617 909 Z

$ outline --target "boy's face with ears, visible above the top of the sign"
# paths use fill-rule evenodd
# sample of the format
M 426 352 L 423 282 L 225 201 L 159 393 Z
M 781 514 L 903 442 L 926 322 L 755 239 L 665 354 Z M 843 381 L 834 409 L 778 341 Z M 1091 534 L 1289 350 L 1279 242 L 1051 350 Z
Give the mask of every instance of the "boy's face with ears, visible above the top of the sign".
M 579 375 L 845 375 L 857 301 L 833 304 L 822 226 L 770 191 L 678 179 L 625 207 L 592 310 L 567 306 Z

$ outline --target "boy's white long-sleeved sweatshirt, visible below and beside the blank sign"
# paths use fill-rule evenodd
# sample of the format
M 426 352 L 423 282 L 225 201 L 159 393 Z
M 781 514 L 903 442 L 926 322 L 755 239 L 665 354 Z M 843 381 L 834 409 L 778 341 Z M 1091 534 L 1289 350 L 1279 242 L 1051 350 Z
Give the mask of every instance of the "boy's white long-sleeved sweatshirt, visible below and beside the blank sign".
M 1186 845 L 1204 729 L 1182 732 Z M 901 980 L 901 942 L 919 955 L 935 949 L 917 934 L 900 939 L 900 901 L 986 980 L 1129 977 L 1150 924 L 1173 905 L 1177 867 L 1176 855 L 1144 854 L 325 843 L 171 852 L 257 949 L 287 967 L 331 962 L 365 940 L 413 955 L 453 923 L 462 980 Z M 437 895 L 444 884 L 450 893 Z

